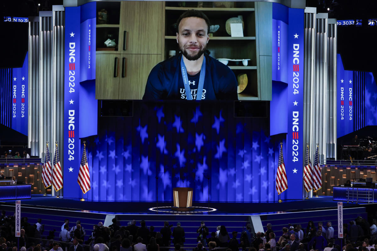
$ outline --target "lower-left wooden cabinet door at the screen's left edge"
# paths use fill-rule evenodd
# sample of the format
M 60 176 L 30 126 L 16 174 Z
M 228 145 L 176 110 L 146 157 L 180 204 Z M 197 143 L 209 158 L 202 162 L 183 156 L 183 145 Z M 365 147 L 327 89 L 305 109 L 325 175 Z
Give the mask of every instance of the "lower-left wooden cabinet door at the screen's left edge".
M 96 54 L 96 99 L 118 99 L 120 63 L 120 54 Z

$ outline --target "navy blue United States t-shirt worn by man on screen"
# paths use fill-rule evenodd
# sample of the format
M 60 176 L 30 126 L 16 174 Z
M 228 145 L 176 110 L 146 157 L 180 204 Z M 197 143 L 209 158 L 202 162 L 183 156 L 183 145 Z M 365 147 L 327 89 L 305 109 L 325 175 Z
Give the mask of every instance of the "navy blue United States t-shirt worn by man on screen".
M 181 72 L 182 54 L 158 63 L 150 71 L 144 100 L 187 99 Z M 215 58 L 205 55 L 206 70 L 202 100 L 238 100 L 237 80 L 233 71 Z M 193 99 L 198 95 L 200 71 L 188 75 Z

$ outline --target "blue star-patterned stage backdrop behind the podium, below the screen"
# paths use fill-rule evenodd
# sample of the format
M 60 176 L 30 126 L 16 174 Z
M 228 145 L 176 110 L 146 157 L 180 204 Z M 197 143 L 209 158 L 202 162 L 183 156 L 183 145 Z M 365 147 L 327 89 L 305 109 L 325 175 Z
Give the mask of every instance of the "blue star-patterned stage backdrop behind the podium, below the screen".
M 172 201 L 173 187 L 192 187 L 194 201 L 207 201 L 208 189 L 210 201 L 277 200 L 286 134 L 268 137 L 267 118 L 235 118 L 233 102 L 135 100 L 133 114 L 100 118 L 98 135 L 81 139 L 92 181 L 84 198 L 155 201 L 158 189 L 159 201 Z

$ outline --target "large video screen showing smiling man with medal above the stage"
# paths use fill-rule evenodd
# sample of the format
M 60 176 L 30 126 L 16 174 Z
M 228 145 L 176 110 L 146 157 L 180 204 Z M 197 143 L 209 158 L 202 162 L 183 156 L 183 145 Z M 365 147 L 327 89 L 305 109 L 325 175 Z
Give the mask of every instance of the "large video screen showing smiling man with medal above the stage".
M 255 100 L 254 2 L 96 3 L 96 99 Z

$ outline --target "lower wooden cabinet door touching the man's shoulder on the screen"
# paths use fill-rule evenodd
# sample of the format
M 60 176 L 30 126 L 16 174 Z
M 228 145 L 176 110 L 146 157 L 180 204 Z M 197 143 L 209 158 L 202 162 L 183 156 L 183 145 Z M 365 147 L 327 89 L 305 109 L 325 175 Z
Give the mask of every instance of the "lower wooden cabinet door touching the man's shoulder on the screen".
M 150 70 L 160 59 L 161 55 L 123 54 L 119 99 L 142 99 Z

